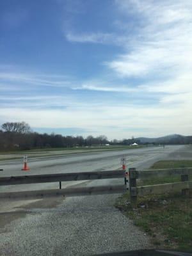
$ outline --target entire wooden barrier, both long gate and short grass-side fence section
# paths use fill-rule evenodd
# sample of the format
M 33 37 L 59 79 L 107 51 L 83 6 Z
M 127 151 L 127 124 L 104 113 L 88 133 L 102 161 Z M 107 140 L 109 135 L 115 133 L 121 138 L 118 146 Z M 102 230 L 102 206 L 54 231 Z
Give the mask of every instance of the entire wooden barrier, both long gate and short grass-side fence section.
M 159 195 L 181 191 L 182 195 L 189 195 L 192 191 L 192 168 L 163 169 L 163 170 L 136 170 L 129 168 L 129 176 L 126 170 L 111 170 L 101 172 L 81 172 L 81 173 L 54 173 L 44 175 L 20 175 L 12 177 L 0 177 L 0 186 L 59 182 L 60 189 L 47 189 L 38 191 L 19 191 L 0 193 L 0 198 L 33 198 L 43 196 L 78 196 L 78 195 L 101 195 L 109 193 L 125 193 L 127 190 L 127 179 L 129 177 L 129 191 L 131 201 L 136 202 L 138 196 Z M 166 184 L 156 184 L 150 186 L 138 186 L 138 180 L 147 180 L 157 177 L 175 177 L 180 175 L 180 182 Z M 77 180 L 99 180 L 99 179 L 118 179 L 122 178 L 122 185 L 107 186 L 88 186 L 61 189 L 62 181 Z M 125 179 L 125 184 L 124 184 Z

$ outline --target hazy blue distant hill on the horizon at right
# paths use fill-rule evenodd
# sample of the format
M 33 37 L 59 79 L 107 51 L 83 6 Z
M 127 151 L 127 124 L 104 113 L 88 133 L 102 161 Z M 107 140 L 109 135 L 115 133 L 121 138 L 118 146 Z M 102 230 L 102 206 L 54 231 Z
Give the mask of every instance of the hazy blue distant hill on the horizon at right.
M 140 138 L 136 138 L 136 140 L 140 140 L 140 143 L 168 143 L 173 140 L 183 140 L 184 138 L 186 138 L 186 136 L 182 136 L 180 134 L 170 134 L 170 135 L 158 137 L 158 138 L 140 137 Z

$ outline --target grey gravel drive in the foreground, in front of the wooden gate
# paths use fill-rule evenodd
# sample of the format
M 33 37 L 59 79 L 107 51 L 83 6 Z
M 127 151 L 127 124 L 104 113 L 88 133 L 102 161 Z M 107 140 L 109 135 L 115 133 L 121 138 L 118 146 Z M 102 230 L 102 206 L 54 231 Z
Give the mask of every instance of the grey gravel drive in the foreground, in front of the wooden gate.
M 49 209 L 23 209 L 26 218 L 6 225 L 4 233 L 0 229 L 0 255 L 93 255 L 152 248 L 149 237 L 115 209 L 117 197 L 79 196 Z

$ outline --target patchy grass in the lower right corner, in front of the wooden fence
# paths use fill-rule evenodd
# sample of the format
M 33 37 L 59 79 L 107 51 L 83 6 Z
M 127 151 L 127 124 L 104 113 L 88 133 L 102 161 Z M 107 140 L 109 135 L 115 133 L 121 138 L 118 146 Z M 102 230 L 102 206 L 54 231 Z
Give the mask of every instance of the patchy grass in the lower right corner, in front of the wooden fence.
M 150 235 L 157 248 L 191 251 L 192 198 L 145 196 L 132 206 L 129 195 L 123 195 L 115 206 Z

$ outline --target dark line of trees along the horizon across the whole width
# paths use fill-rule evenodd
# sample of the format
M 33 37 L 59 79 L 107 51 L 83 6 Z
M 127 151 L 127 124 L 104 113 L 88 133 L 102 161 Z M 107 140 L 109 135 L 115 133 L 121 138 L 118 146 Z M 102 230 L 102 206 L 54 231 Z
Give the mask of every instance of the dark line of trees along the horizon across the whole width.
M 31 148 L 62 148 L 62 147 L 90 147 L 95 145 L 131 145 L 140 140 L 132 137 L 124 140 L 111 140 L 104 135 L 93 137 L 62 136 L 61 134 L 40 134 L 33 132 L 26 122 L 6 122 L 0 129 L 0 150 L 29 150 Z M 166 141 L 158 141 L 153 144 L 192 144 L 192 136 L 179 136 Z M 145 145 L 149 143 L 143 143 Z

